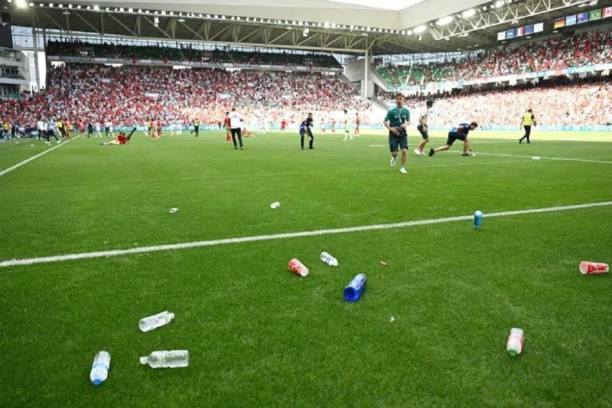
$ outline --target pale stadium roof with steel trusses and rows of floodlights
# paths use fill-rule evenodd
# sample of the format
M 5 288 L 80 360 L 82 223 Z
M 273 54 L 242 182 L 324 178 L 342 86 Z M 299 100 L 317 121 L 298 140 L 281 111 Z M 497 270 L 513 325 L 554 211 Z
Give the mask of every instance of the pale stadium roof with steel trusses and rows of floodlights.
M 540 22 L 550 34 L 558 17 L 612 5 L 612 0 L 397 0 L 384 6 L 371 0 L 9 1 L 12 24 L 95 37 L 373 55 L 482 48 L 497 43 L 499 31 Z

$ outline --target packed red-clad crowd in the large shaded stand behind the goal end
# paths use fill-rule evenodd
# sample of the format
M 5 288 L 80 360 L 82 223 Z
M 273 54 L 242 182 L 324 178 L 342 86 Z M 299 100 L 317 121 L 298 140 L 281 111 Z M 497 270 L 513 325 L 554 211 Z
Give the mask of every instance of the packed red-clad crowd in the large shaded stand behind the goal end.
M 141 125 L 152 119 L 167 125 L 195 119 L 201 124 L 223 121 L 235 106 L 246 124 L 285 119 L 299 123 L 305 114 L 323 118 L 359 111 L 368 120 L 370 103 L 337 76 L 318 73 L 174 70 L 165 67 L 67 64 L 47 72 L 45 92 L 21 100 L 0 101 L 0 117 L 18 117 L 35 124 L 40 117 L 69 121 Z

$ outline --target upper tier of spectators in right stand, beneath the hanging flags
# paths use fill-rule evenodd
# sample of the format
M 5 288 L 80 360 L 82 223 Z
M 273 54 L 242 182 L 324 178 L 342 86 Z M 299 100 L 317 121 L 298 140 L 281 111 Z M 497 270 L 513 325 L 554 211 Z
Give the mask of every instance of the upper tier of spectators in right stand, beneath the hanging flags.
M 559 35 L 489 50 L 472 59 L 427 65 L 387 65 L 378 73 L 389 89 L 431 82 L 474 80 L 612 62 L 612 30 Z

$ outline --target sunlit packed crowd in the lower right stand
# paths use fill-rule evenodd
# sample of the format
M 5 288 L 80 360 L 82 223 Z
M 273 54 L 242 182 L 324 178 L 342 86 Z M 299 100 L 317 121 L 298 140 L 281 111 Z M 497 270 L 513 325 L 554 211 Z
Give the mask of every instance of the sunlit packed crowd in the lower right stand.
M 394 103 L 392 93 L 378 95 L 388 105 Z M 483 126 L 517 126 L 526 109 L 534 109 L 540 125 L 611 125 L 612 79 L 591 76 L 583 80 L 565 77 L 540 80 L 537 84 L 495 87 L 441 94 L 436 97 L 407 97 L 406 105 L 417 113 L 425 100 L 436 103 L 430 124 L 452 127 L 459 122 L 476 121 Z M 416 124 L 417 118 L 414 118 Z

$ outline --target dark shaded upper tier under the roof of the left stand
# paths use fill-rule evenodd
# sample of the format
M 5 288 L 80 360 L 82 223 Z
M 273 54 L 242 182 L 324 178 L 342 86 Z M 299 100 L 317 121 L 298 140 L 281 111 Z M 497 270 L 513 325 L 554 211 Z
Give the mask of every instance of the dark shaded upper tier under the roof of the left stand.
M 245 51 L 196 50 L 157 45 L 135 46 L 110 43 L 56 42 L 47 44 L 47 55 L 68 57 L 106 57 L 121 59 L 156 59 L 167 62 L 211 62 L 214 64 L 283 65 L 284 67 L 316 67 L 341 69 L 342 65 L 330 55 L 260 53 Z

